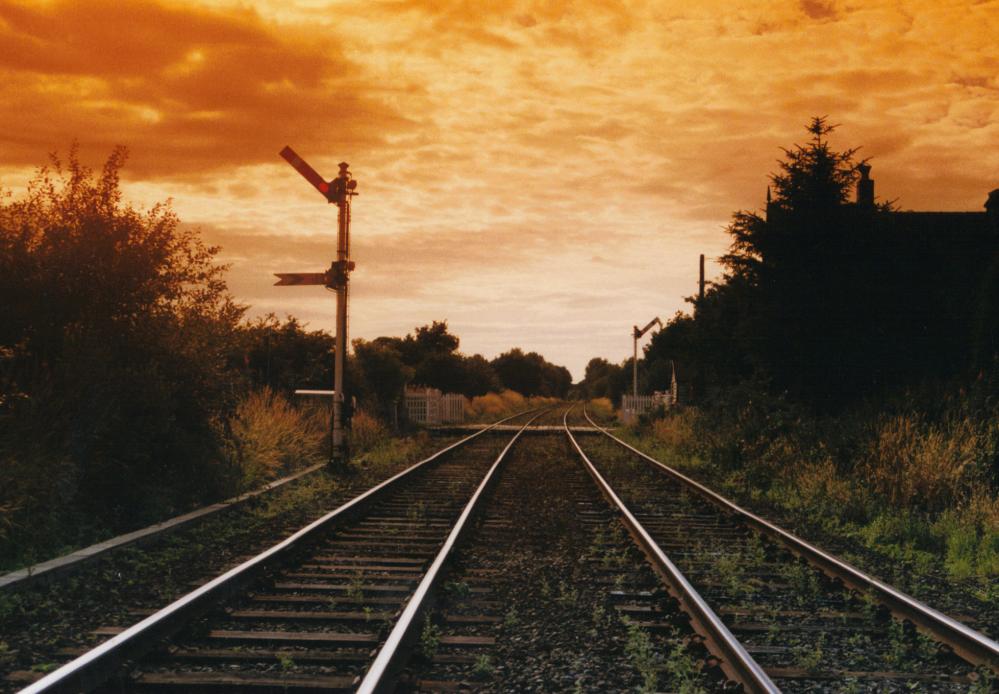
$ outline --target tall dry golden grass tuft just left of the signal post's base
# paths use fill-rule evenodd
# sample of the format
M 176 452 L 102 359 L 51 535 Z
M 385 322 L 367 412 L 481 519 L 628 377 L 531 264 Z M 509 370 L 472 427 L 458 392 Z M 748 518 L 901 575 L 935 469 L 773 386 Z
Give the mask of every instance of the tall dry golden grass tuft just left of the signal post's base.
M 227 438 L 229 462 L 241 490 L 324 460 L 322 418 L 293 407 L 267 387 L 239 403 Z

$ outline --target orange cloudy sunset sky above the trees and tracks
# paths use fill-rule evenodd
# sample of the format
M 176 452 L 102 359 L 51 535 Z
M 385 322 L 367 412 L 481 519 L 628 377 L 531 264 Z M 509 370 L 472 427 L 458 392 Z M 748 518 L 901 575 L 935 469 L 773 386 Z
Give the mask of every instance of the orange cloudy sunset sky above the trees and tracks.
M 322 270 L 336 223 L 277 153 L 349 161 L 351 337 L 447 319 L 578 379 L 684 307 L 813 115 L 880 198 L 981 209 L 997 36 L 996 0 L 0 0 L 0 184 L 127 145 L 129 197 L 172 197 L 252 314 L 331 329 L 331 295 L 271 286 Z

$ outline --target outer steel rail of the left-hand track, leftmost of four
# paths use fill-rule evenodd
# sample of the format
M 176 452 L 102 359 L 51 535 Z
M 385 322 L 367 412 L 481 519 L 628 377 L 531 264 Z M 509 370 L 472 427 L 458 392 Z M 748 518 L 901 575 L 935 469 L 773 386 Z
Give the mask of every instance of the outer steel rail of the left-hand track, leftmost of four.
M 289 535 L 257 556 L 248 559 L 203 586 L 183 595 L 117 636 L 87 651 L 75 660 L 66 663 L 37 682 L 28 685 L 20 691 L 20 694 L 80 692 L 91 691 L 99 687 L 118 672 L 127 660 L 143 655 L 156 643 L 179 631 L 185 624 L 210 610 L 220 600 L 234 594 L 240 587 L 246 585 L 262 569 L 276 561 L 279 557 L 287 555 L 303 541 L 326 530 L 331 523 L 350 517 L 367 506 L 372 500 L 396 488 L 417 470 L 423 469 L 434 460 L 481 436 L 493 427 L 536 411 L 536 409 L 527 410 L 526 412 L 520 412 L 511 417 L 501 419 L 414 463 L 405 470 L 380 482 L 335 510 L 309 523 L 304 528 Z M 531 419 L 529 421 L 534 420 Z

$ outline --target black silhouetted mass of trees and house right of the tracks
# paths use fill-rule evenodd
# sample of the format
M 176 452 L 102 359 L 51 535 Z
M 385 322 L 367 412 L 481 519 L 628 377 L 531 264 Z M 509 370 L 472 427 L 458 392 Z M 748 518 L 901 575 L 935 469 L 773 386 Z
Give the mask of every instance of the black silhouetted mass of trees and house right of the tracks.
M 666 388 L 675 360 L 688 401 L 753 383 L 835 411 L 995 368 L 996 210 L 990 220 L 899 213 L 873 193 L 852 203 L 867 167 L 830 147 L 832 129 L 815 118 L 811 140 L 785 150 L 765 215 L 733 216 L 724 277 L 653 336 L 646 388 Z M 589 371 L 585 384 L 602 387 Z

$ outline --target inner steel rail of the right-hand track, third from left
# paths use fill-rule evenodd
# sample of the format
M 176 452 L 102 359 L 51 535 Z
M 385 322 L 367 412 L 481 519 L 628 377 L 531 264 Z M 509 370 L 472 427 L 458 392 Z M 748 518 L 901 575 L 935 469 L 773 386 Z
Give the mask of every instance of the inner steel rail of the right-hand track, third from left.
M 584 410 L 585 413 L 585 410 Z M 639 522 L 631 510 L 621 500 L 614 489 L 610 486 L 603 475 L 597 470 L 593 462 L 587 457 L 583 449 L 580 448 L 576 437 L 569 430 L 568 415 L 563 419 L 563 427 L 569 442 L 579 454 L 586 467 L 586 471 L 600 488 L 600 492 L 610 502 L 611 506 L 621 514 L 621 519 L 628 529 L 629 534 L 642 548 L 645 556 L 648 557 L 652 568 L 666 582 L 670 588 L 670 593 L 680 603 L 681 609 L 690 615 L 695 631 L 704 637 L 708 650 L 720 659 L 719 667 L 725 676 L 732 682 L 741 684 L 747 692 L 766 692 L 775 694 L 781 690 L 775 685 L 763 668 L 753 660 L 745 647 L 739 642 L 732 632 L 728 630 L 721 618 L 715 614 L 708 603 L 701 597 L 700 593 L 690 584 L 687 577 L 683 575 L 666 553 L 663 552 L 659 544 L 652 539 L 645 527 Z M 587 416 L 589 419 L 589 416 Z M 592 420 L 590 420 L 592 421 Z

